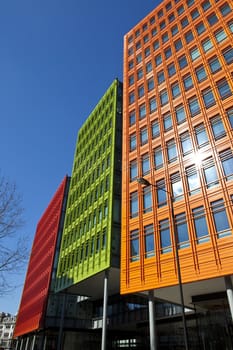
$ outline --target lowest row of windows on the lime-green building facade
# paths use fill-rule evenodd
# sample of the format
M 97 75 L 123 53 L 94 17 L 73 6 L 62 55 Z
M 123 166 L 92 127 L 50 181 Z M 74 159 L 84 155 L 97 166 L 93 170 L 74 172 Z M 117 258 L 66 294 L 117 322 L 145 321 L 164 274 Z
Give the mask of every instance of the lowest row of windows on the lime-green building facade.
M 59 261 L 58 276 L 63 275 L 69 268 L 77 266 L 87 258 L 98 254 L 106 248 L 106 228 L 102 232 L 98 232 L 96 236 L 91 237 L 85 243 L 77 247 L 71 254 L 66 255 Z

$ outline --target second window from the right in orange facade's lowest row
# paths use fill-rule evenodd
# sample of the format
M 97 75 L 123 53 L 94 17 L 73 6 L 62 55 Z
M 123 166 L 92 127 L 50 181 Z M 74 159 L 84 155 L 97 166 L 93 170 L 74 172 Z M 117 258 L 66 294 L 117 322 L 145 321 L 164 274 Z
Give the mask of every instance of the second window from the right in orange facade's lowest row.
M 196 233 L 197 243 L 204 243 L 210 240 L 208 226 L 206 223 L 206 214 L 203 206 L 192 210 L 193 221 Z

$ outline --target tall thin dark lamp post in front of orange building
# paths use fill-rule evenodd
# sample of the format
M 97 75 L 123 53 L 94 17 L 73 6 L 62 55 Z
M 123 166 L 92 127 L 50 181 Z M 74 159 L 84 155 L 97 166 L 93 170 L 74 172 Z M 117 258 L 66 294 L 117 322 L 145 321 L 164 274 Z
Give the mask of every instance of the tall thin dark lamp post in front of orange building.
M 177 277 L 178 277 L 178 284 L 179 284 L 179 293 L 180 293 L 180 303 L 182 308 L 182 323 L 183 323 L 183 329 L 184 329 L 184 344 L 185 349 L 189 350 L 189 343 L 188 343 L 188 331 L 187 331 L 187 323 L 186 323 L 186 317 L 185 317 L 185 306 L 184 306 L 184 293 L 183 293 L 183 284 L 182 284 L 182 278 L 181 278 L 181 270 L 180 270 L 180 258 L 179 258 L 179 249 L 178 249 L 178 232 L 176 229 L 176 222 L 175 222 L 175 215 L 174 215 L 174 207 L 173 207 L 173 201 L 172 201 L 172 195 L 171 192 L 166 191 L 164 188 L 158 187 L 156 185 L 151 184 L 148 180 L 144 179 L 144 177 L 137 178 L 137 182 L 140 185 L 144 186 L 153 186 L 157 189 L 160 189 L 167 193 L 170 200 L 170 206 L 171 206 L 171 219 L 172 219 L 172 226 L 173 226 L 173 233 L 174 233 L 174 242 L 175 242 L 175 260 L 176 260 L 176 268 L 177 268 Z

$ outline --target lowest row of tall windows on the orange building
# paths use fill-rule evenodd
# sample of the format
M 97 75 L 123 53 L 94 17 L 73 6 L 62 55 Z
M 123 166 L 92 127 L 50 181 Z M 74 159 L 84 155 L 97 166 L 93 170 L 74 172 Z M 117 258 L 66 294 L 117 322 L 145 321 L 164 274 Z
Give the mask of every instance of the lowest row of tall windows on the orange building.
M 211 216 L 207 216 L 204 206 L 192 209 L 192 216 L 187 223 L 187 214 L 185 212 L 175 215 L 174 221 L 177 230 L 178 248 L 187 248 L 190 246 L 191 234 L 190 227 L 195 232 L 195 239 L 198 244 L 210 241 L 210 221 L 215 227 L 217 238 L 231 235 L 226 208 L 223 199 L 210 203 Z M 209 222 L 208 222 L 209 221 Z M 143 229 L 143 247 L 140 247 L 139 229 L 130 232 L 130 260 L 140 259 L 140 251 L 143 251 L 145 258 L 155 255 L 155 236 L 159 238 L 161 254 L 172 252 L 172 230 L 170 220 L 163 219 L 159 221 L 158 232 L 155 232 L 153 224 L 144 226 Z

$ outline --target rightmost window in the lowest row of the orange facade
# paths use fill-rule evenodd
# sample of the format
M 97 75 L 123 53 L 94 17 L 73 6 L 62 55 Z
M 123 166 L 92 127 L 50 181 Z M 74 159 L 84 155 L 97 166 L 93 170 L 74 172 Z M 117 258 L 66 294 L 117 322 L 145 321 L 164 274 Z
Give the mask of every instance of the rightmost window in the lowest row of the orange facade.
M 227 218 L 223 199 L 211 203 L 211 210 L 214 218 L 215 230 L 218 238 L 231 235 L 231 229 Z

